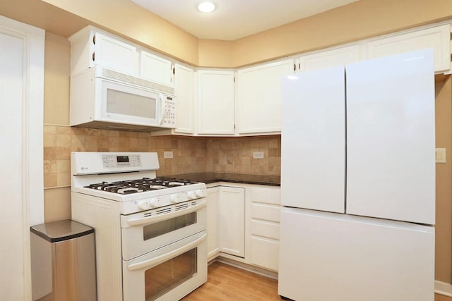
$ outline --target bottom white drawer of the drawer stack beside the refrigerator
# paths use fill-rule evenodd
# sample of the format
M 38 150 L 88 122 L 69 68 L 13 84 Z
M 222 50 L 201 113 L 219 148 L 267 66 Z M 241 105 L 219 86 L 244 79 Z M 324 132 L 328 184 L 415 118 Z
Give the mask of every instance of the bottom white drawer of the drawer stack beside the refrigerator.
M 251 264 L 278 271 L 279 243 L 262 238 L 251 238 Z

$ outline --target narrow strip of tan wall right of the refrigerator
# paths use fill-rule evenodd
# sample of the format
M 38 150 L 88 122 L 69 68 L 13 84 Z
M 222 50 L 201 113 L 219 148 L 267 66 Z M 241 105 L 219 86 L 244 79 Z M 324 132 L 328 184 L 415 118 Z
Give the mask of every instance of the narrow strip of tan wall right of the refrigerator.
M 446 147 L 446 164 L 436 164 L 435 278 L 449 283 L 452 266 L 452 78 L 437 77 L 436 147 Z

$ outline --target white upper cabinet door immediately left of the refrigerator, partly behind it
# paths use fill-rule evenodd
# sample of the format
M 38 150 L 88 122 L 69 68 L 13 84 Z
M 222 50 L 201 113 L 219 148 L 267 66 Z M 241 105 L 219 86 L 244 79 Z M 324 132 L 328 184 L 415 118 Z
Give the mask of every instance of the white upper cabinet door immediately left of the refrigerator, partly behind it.
M 238 133 L 279 133 L 281 80 L 294 72 L 292 59 L 244 68 L 237 73 Z

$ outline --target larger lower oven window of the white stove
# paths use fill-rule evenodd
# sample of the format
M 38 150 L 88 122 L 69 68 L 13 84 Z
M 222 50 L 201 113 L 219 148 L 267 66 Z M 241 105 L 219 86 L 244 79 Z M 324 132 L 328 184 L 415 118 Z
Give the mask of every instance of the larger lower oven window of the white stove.
M 198 271 L 197 250 L 195 247 L 145 271 L 145 300 L 155 300 L 193 277 Z

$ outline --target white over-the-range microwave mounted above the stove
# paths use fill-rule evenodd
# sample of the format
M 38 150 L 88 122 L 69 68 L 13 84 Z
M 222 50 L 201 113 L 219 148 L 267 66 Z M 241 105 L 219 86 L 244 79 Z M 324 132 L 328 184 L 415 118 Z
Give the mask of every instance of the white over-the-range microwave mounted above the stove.
M 159 85 L 105 68 L 89 68 L 71 77 L 70 124 L 117 130 L 175 128 L 174 95 L 153 88 Z

